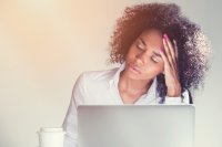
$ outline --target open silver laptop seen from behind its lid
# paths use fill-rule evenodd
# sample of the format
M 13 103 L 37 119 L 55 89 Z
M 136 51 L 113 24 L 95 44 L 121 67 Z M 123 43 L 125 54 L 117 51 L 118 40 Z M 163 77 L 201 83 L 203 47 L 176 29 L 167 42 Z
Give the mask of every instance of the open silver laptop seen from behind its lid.
M 192 105 L 81 105 L 79 147 L 193 147 Z

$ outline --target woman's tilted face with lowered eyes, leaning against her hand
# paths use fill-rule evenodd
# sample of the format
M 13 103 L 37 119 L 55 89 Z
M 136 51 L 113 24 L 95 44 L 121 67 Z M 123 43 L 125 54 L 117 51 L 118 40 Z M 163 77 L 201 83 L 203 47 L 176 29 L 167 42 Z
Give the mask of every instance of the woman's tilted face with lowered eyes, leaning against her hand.
M 163 72 L 161 49 L 162 33 L 155 29 L 143 31 L 129 49 L 124 74 L 134 80 L 153 80 Z

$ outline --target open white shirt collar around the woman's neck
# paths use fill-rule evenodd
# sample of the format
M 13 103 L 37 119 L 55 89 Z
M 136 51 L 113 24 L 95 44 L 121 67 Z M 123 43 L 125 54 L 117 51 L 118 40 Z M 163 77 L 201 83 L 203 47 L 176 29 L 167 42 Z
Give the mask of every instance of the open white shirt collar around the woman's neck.
M 125 62 L 122 63 L 120 65 L 120 67 L 118 69 L 118 71 L 114 73 L 113 77 L 110 80 L 110 87 L 112 85 L 114 85 L 117 88 L 118 88 L 118 83 L 119 83 L 119 80 L 120 80 L 120 73 L 124 70 L 125 67 Z M 145 96 L 143 95 L 142 97 L 157 97 L 157 85 L 158 85 L 158 82 L 157 82 L 157 77 L 153 80 L 150 88 L 148 90 Z

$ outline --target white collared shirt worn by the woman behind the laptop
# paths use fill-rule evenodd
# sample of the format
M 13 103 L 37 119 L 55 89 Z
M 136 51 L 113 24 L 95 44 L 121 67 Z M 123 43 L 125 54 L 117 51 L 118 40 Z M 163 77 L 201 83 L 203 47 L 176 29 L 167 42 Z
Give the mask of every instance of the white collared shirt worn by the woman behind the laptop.
M 124 64 L 118 69 L 85 72 L 79 76 L 63 122 L 63 128 L 67 132 L 64 147 L 78 147 L 77 107 L 79 105 L 123 105 L 118 90 L 120 72 L 123 70 Z M 163 104 L 189 104 L 188 91 L 183 92 L 183 96 L 184 98 L 167 96 Z M 142 95 L 134 105 L 158 105 L 160 101 L 157 93 L 157 78 L 154 78 L 147 94 Z

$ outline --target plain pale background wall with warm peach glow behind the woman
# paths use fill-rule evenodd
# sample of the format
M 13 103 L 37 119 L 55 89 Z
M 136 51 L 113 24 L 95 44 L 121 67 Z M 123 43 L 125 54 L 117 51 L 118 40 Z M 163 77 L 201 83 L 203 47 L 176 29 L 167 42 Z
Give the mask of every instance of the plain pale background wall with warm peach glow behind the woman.
M 145 1 L 0 0 L 0 147 L 37 147 L 40 127 L 61 126 L 78 75 L 111 67 L 115 20 L 140 2 Z M 222 2 L 173 2 L 211 40 L 211 71 L 195 96 L 195 138 L 196 147 L 221 147 Z

